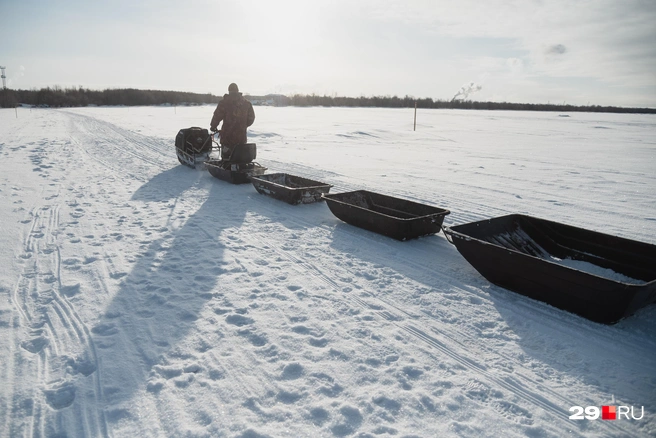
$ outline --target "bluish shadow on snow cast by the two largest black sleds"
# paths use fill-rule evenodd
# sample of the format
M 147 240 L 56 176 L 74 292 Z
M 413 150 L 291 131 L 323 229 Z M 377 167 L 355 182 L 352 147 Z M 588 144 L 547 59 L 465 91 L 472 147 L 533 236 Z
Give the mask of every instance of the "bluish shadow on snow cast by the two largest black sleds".
M 481 343 L 482 348 L 490 353 L 482 357 L 494 358 L 493 363 L 482 362 L 482 369 L 503 368 L 507 364 L 509 368 L 504 371 L 508 372 L 508 378 L 512 378 L 513 366 L 525 363 L 529 374 L 534 375 L 535 385 L 559 379 L 557 376 L 561 375 L 593 388 L 603 388 L 608 394 L 637 405 L 655 401 L 653 383 L 640 387 L 630 379 L 601 382 L 598 377 L 607 374 L 605 369 L 622 369 L 630 374 L 634 367 L 636 374 L 644 375 L 644 361 L 656 361 L 649 345 L 640 345 L 639 340 L 634 342 L 636 345 L 627 345 L 627 341 L 636 335 L 656 332 L 655 305 L 615 326 L 588 321 L 490 284 L 441 232 L 436 236 L 399 242 L 339 223 L 334 228 L 331 247 L 348 254 L 356 264 L 366 262 L 368 271 L 358 268 L 352 271 L 370 282 L 371 296 L 391 305 L 383 305 L 387 307 L 386 311 L 405 319 L 406 316 L 393 307 L 399 305 L 399 309 L 418 310 L 434 321 L 434 324 L 418 325 L 410 318 L 401 325 L 411 325 L 438 343 L 446 340 L 445 337 L 452 337 L 451 341 L 462 343 L 463 349 L 469 348 L 465 345 Z M 399 292 L 393 290 L 395 282 L 392 276 L 396 274 L 421 284 L 413 290 L 401 291 L 405 294 L 403 301 L 398 295 L 394 297 L 394 292 Z M 371 297 L 366 299 L 376 305 Z M 413 305 L 408 307 L 408 304 Z M 653 336 L 649 338 L 650 344 L 653 340 Z M 501 347 L 507 343 L 516 343 L 523 350 L 521 359 L 503 353 L 507 349 Z M 609 348 L 616 350 L 615 354 L 609 353 Z M 623 357 L 629 352 L 632 353 L 630 357 Z M 476 351 L 466 355 L 477 361 L 480 357 Z M 609 356 L 615 362 L 610 368 L 607 366 Z M 562 382 L 554 380 L 553 384 L 561 386 Z M 559 395 L 567 397 L 567 392 L 561 391 Z M 557 396 L 546 397 L 558 399 Z M 554 408 L 566 413 L 570 406 L 582 403 L 571 402 L 573 404 L 566 405 L 561 400 L 562 405 L 557 404 Z M 610 400 L 598 402 L 610 403 Z

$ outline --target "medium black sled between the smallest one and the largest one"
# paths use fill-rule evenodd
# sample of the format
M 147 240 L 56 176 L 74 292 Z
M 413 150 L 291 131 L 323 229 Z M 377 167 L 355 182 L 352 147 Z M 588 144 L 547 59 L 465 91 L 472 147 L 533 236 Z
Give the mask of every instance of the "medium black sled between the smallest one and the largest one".
M 330 211 L 346 223 L 398 240 L 440 231 L 449 210 L 366 190 L 323 195 Z

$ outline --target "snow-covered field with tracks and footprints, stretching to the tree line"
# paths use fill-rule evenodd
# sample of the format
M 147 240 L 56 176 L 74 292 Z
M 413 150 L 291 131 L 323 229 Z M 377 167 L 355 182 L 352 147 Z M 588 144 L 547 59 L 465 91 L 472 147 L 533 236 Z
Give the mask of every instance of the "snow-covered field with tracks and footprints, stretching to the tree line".
M 656 243 L 656 117 L 256 107 L 269 172 Z M 180 166 L 213 107 L 0 111 L 3 437 L 654 436 L 656 306 L 603 326 Z M 572 406 L 644 406 L 570 420 Z

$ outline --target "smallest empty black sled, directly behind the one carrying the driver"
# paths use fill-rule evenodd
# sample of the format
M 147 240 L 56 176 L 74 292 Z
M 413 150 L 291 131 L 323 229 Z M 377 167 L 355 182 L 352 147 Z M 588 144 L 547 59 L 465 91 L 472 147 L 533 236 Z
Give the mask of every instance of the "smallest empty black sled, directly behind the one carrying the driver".
M 328 193 L 332 187 L 330 184 L 286 173 L 253 176 L 251 183 L 259 193 L 292 205 L 321 201 L 321 195 Z

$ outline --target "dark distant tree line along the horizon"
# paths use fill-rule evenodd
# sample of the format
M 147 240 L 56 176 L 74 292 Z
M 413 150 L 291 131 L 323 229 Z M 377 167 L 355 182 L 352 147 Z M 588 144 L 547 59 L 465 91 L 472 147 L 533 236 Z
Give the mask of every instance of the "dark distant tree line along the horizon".
M 606 112 L 656 114 L 656 108 L 624 108 L 600 105 L 557 105 L 544 103 L 479 102 L 474 100 L 416 99 L 411 96 L 339 97 L 316 94 L 294 94 L 290 97 L 276 94 L 246 96 L 255 104 L 275 106 L 324 106 L 324 107 L 379 107 L 474 109 L 474 110 L 517 110 L 517 111 L 560 111 L 560 112 Z M 201 105 L 218 103 L 222 97 L 210 93 L 198 94 L 181 91 L 137 90 L 134 88 L 94 91 L 78 88 L 42 88 L 40 90 L 0 90 L 0 107 L 13 108 L 19 104 L 49 107 L 74 107 L 88 105 Z

